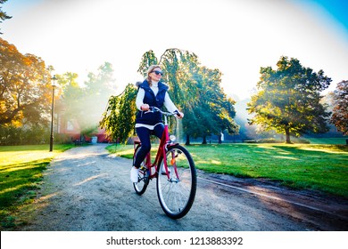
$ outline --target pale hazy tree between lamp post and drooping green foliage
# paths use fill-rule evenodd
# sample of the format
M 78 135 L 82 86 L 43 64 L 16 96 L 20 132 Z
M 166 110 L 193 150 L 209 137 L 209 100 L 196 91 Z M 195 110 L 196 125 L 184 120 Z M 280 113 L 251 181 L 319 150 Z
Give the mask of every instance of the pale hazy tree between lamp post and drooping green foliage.
M 89 73 L 85 85 L 77 82 L 78 75 L 67 72 L 58 76 L 62 86 L 62 99 L 57 108 L 62 109 L 66 120 L 76 120 L 84 135 L 91 136 L 97 132 L 99 122 L 113 92 L 116 92 L 112 64 L 104 62 L 97 73 Z

